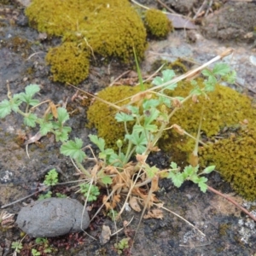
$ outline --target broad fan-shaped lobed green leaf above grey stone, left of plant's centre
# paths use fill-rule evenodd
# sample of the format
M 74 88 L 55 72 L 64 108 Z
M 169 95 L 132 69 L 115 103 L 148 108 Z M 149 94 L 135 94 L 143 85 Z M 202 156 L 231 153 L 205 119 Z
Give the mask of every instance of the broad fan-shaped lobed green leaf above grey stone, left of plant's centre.
M 70 156 L 81 163 L 86 157 L 86 154 L 81 149 L 82 147 L 83 141 L 76 137 L 74 141 L 67 141 L 67 143 L 61 145 L 61 154 Z

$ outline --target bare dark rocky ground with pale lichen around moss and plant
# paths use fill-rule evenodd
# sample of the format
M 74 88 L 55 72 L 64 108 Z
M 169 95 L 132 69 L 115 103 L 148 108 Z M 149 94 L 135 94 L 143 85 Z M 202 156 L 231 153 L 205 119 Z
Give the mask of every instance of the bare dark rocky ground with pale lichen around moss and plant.
M 202 4 L 202 1 L 169 0 L 163 2 L 182 15 L 195 15 L 196 10 Z M 196 17 L 198 23 L 196 29 L 177 29 L 166 40 L 149 42 L 142 65 L 143 73 L 151 71 L 156 60 L 175 61 L 177 57 L 180 57 L 204 63 L 232 47 L 235 53 L 225 61 L 236 69 L 238 75 L 238 83 L 234 85 L 234 89 L 254 96 L 256 73 L 252 60 L 256 52 L 252 24 L 256 26 L 256 5 L 245 1 L 213 2 L 219 3 L 219 9 L 216 8 L 214 12 L 208 8 L 202 9 L 205 13 L 198 14 Z M 160 3 L 156 6 L 155 1 L 140 1 L 140 3 L 159 9 L 163 8 Z M 67 97 L 71 98 L 75 90 L 52 82 L 49 79 L 49 67 L 44 61 L 49 47 L 58 44 L 60 39 L 48 38 L 47 35 L 30 28 L 23 9 L 20 3 L 0 1 L 0 101 L 6 98 L 7 80 L 13 93 L 23 91 L 27 84 L 40 84 L 40 100 L 51 99 L 53 102 L 61 102 Z M 207 10 L 208 14 L 204 17 Z M 89 78 L 80 85 L 80 88 L 94 93 L 108 86 L 113 79 L 126 70 L 127 67 L 120 68 L 119 63 L 114 61 L 108 66 L 92 65 Z M 81 108 L 79 102 L 76 104 L 73 108 L 78 108 L 79 112 L 73 115 L 69 125 L 73 127 L 72 137 L 80 137 L 86 144 L 88 134 L 95 131 L 85 128 L 86 108 Z M 8 119 L 1 119 L 1 206 L 37 191 L 44 180 L 45 173 L 52 166 L 59 168 L 61 182 L 76 178 L 75 168 L 70 160 L 59 153 L 60 143 L 55 143 L 54 137 L 43 137 L 40 143 L 31 144 L 28 147 L 30 158 L 27 157 L 22 136 L 25 134 L 29 137 L 36 132 L 26 130 L 18 115 L 12 114 Z M 170 159 L 172 159 L 172 152 L 153 155 L 150 161 L 160 167 L 165 167 Z M 209 185 L 213 188 L 234 196 L 236 201 L 241 202 L 248 209 L 255 207 L 256 203 L 248 203 L 238 195 L 232 194 L 230 185 L 224 183 L 218 173 L 212 173 L 208 178 Z M 55 190 L 55 192 L 59 191 L 80 200 L 79 196 L 73 194 L 67 186 L 60 186 Z M 157 195 L 160 201 L 165 203 L 166 208 L 187 219 L 195 225 L 196 229 L 166 211 L 162 219 L 142 221 L 134 246 L 131 250 L 126 250 L 125 255 L 253 256 L 256 253 L 255 224 L 218 195 L 210 192 L 203 194 L 192 183 L 184 183 L 180 189 L 177 189 L 168 180 L 160 182 L 160 191 Z M 37 200 L 37 196 L 34 195 L 24 202 Z M 3 211 L 17 213 L 22 203 L 18 202 L 4 210 L 1 209 L 0 214 L 3 214 Z M 99 207 L 98 203 L 92 206 L 92 212 L 96 207 Z M 102 225 L 109 226 L 112 232 L 115 228 L 113 222 L 103 213 L 101 212 L 86 230 L 90 236 L 96 238 L 96 241 L 83 232 L 79 235 L 49 238 L 49 244 L 57 248 L 49 255 L 117 255 L 113 244 L 124 238 L 125 232 L 120 231 L 117 236 L 112 236 L 108 243 L 102 244 L 99 241 Z M 140 217 L 137 212 L 125 212 L 117 223 L 118 229 L 122 227 L 124 220 L 130 221 L 133 218 L 128 231 L 134 232 L 137 230 Z M 9 223 L 2 223 L 0 227 L 0 255 L 12 255 L 11 242 L 20 240 L 20 230 L 16 226 L 11 227 L 12 225 L 10 220 Z M 23 255 L 30 255 L 29 248 L 35 244 L 34 239 L 26 237 L 24 244 L 27 250 Z

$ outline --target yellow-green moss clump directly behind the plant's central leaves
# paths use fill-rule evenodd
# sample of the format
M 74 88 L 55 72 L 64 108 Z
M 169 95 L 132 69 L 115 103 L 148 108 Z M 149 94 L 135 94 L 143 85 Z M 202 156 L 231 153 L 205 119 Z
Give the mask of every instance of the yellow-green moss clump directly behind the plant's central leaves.
M 118 106 L 124 106 L 130 99 L 123 101 L 129 96 L 135 95 L 140 91 L 139 86 L 112 86 L 101 90 L 98 97 L 105 101 L 115 103 Z M 103 137 L 108 147 L 116 148 L 116 141 L 123 140 L 125 136 L 124 123 L 118 123 L 114 119 L 117 109 L 108 106 L 106 103 L 96 101 L 87 111 L 87 119 L 89 119 L 89 127 L 96 127 L 98 136 Z M 128 122 L 128 129 L 131 128 L 132 122 Z

